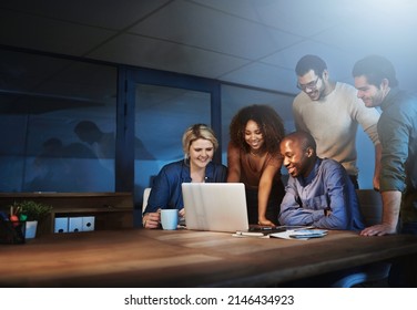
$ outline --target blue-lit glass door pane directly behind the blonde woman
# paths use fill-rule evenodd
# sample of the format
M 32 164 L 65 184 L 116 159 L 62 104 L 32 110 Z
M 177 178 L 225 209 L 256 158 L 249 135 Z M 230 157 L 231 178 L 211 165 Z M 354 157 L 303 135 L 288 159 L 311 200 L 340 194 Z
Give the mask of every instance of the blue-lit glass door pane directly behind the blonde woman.
M 136 86 L 134 184 L 136 197 L 162 166 L 184 158 L 182 135 L 195 124 L 211 124 L 211 95 L 183 89 Z

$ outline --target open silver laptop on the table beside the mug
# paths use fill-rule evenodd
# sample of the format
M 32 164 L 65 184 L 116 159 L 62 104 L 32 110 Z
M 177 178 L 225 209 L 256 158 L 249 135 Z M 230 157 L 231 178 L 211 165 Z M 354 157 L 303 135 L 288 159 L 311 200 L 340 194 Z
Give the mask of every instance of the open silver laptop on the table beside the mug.
M 192 230 L 247 230 L 243 183 L 183 183 L 185 225 Z

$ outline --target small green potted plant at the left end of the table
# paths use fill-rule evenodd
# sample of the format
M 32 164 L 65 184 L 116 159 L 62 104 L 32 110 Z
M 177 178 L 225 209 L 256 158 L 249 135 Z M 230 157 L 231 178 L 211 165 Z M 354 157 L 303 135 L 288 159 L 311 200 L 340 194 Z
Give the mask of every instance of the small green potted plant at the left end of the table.
M 50 215 L 52 207 L 33 200 L 22 200 L 14 202 L 10 209 L 21 221 L 26 221 L 26 238 L 34 238 L 38 223 Z

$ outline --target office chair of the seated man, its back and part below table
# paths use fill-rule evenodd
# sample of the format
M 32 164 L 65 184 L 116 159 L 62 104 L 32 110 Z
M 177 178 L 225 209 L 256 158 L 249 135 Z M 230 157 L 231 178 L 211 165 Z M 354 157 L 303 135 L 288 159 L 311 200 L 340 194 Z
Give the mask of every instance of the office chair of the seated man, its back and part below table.
M 357 189 L 360 211 L 364 216 L 365 226 L 379 224 L 383 217 L 383 199 L 374 189 Z M 382 281 L 389 275 L 389 262 L 375 262 L 364 266 L 363 271 L 348 275 L 332 285 L 334 288 L 352 288 L 353 286 Z

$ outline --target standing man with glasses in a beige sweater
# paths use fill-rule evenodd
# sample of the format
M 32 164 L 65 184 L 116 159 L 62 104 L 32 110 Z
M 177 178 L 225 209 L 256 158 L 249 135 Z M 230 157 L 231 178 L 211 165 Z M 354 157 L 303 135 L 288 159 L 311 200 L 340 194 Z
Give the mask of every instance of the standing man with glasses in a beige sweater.
M 379 190 L 378 111 L 367 108 L 352 85 L 330 81 L 326 63 L 316 55 L 303 56 L 295 72 L 302 90 L 293 102 L 297 131 L 308 132 L 316 141 L 317 155 L 339 162 L 358 188 L 356 133 L 360 124 L 375 145 L 373 185 Z

